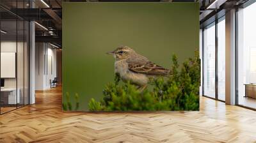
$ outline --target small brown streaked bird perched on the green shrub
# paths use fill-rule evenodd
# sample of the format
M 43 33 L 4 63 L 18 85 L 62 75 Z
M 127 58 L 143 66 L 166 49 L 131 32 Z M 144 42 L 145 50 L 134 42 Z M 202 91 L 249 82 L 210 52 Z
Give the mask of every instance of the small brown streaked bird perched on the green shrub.
M 115 57 L 115 73 L 120 75 L 123 82 L 130 82 L 143 91 L 150 77 L 166 77 L 170 75 L 168 68 L 163 68 L 147 57 L 142 56 L 127 46 L 118 46 L 117 49 L 107 54 Z

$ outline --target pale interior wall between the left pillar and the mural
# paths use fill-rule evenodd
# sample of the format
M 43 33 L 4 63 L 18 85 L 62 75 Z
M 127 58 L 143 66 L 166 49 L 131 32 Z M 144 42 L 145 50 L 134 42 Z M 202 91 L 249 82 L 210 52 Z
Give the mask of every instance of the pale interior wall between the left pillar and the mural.
M 49 89 L 50 80 L 57 75 L 56 49 L 49 43 L 36 43 L 35 47 L 35 89 Z

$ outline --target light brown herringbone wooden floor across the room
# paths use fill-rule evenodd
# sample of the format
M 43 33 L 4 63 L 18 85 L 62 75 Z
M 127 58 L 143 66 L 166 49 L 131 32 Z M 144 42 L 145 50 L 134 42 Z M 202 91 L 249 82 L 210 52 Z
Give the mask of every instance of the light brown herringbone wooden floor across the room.
M 0 142 L 256 142 L 256 112 L 200 98 L 200 112 L 63 113 L 61 89 L 0 116 Z

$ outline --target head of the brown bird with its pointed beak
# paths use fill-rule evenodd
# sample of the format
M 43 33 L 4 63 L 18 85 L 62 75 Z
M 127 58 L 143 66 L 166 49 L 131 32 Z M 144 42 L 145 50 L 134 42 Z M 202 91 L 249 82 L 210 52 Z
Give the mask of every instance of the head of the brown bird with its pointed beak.
M 113 52 L 107 52 L 115 57 L 116 60 L 127 59 L 132 55 L 136 54 L 134 50 L 127 46 L 119 46 Z

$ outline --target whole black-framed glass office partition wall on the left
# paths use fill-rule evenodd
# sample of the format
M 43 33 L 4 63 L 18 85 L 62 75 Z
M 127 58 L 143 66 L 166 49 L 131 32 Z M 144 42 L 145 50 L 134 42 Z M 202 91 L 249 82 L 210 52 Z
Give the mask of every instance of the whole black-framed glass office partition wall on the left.
M 13 1 L 23 8 L 25 1 Z M 10 11 L 1 8 L 1 11 Z M 29 22 L 10 13 L 1 15 L 0 114 L 29 104 Z

